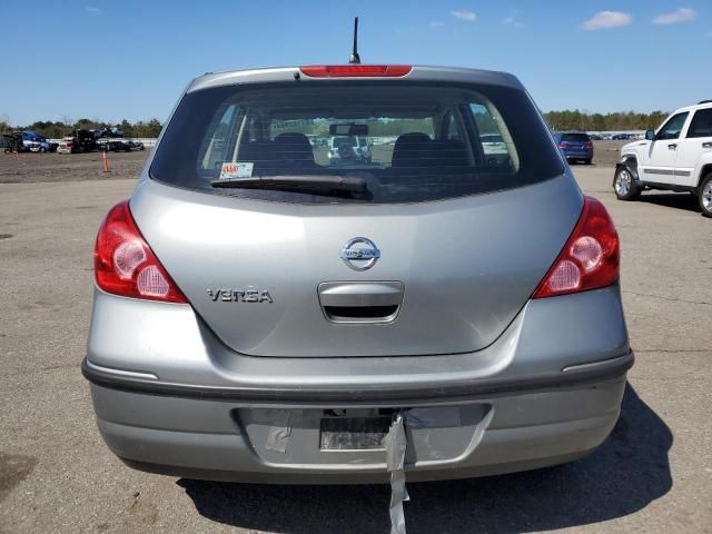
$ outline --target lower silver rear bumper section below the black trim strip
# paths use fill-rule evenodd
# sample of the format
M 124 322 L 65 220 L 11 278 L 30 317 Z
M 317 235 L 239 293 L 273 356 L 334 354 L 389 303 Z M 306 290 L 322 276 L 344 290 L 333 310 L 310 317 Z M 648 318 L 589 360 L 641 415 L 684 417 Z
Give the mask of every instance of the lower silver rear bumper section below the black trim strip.
M 463 431 L 462 447 L 451 447 L 441 439 L 442 449 L 429 447 L 425 454 L 406 457 L 407 479 L 493 475 L 576 459 L 603 443 L 612 431 L 624 387 L 621 375 L 575 386 L 461 398 L 449 406 L 481 409 L 484 416 Z M 388 481 L 385 452 L 369 451 L 362 457 L 352 452 L 339 458 L 344 453 L 318 451 L 318 428 L 290 428 L 286 449 L 270 452 L 264 439 L 269 429 L 265 427 L 260 434 L 254 422 L 248 424 L 243 414 L 251 408 L 245 403 L 98 385 L 91 386 L 91 394 L 105 442 L 135 468 L 189 478 L 279 484 Z M 414 403 L 429 406 L 432 400 Z M 303 412 L 318 411 L 310 407 Z M 442 428 L 425 432 L 432 444 L 437 443 Z M 408 438 L 411 447 L 415 438 L 412 434 Z M 305 449 L 314 449 L 308 461 L 300 456 Z

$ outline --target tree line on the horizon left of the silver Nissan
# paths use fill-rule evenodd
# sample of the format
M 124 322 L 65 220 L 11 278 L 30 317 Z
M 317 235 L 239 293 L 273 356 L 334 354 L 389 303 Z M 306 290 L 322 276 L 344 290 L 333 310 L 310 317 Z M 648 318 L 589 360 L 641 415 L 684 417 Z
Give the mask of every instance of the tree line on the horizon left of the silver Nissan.
M 119 128 L 123 130 L 126 137 L 158 137 L 161 123 L 158 119 L 148 121 L 139 120 L 129 122 L 123 119 L 121 122 L 109 123 L 100 120 L 79 119 L 71 121 L 63 119 L 58 121 L 38 120 L 27 126 L 12 126 L 4 117 L 0 117 L 0 134 L 9 134 L 12 131 L 32 130 L 44 136 L 48 139 L 60 139 L 72 130 L 95 130 L 105 128 Z

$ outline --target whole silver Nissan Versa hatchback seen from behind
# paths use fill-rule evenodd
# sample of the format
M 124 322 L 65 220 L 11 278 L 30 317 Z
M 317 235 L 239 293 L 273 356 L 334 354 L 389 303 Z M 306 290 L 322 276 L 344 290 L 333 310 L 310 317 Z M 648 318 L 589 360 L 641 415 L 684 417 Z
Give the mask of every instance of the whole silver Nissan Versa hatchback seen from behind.
M 394 421 L 408 481 L 568 462 L 633 364 L 611 218 L 502 72 L 196 78 L 95 264 L 82 372 L 149 472 L 387 482 Z

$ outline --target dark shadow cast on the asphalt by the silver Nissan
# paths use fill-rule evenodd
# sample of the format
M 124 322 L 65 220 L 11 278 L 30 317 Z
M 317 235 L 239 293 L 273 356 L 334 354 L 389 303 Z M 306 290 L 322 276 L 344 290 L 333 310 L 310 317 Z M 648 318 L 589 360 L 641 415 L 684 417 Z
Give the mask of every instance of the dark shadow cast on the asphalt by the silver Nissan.
M 513 475 L 409 484 L 408 533 L 528 532 L 644 508 L 672 487 L 665 423 L 627 385 L 621 419 L 591 456 Z M 386 485 L 270 486 L 180 479 L 205 517 L 288 534 L 389 532 Z

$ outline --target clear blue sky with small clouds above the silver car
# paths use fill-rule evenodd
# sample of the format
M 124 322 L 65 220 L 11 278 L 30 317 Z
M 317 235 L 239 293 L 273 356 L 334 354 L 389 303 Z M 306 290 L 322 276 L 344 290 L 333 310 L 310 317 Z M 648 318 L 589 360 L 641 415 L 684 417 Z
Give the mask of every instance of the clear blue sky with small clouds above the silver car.
M 0 119 L 164 121 L 201 72 L 346 62 L 356 14 L 365 63 L 510 71 L 543 110 L 712 98 L 710 0 L 37 0 L 3 2 Z

